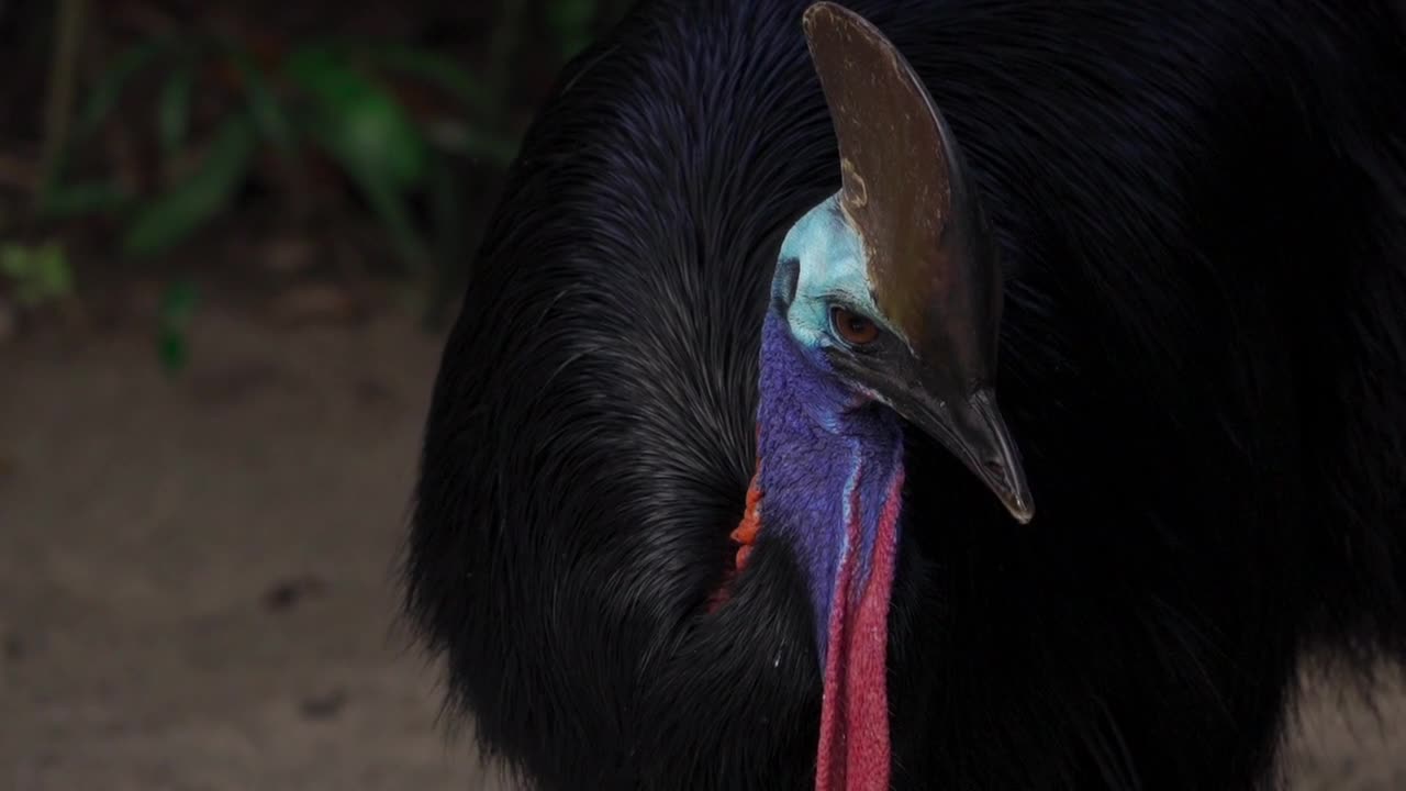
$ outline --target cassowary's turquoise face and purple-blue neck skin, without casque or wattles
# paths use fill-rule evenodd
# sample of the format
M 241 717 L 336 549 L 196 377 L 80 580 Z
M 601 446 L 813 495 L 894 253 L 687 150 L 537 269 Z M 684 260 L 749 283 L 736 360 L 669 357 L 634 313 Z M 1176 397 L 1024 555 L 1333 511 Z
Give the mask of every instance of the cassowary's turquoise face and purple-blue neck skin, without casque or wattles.
M 862 242 L 835 198 L 792 228 L 780 259 L 799 262 L 799 269 L 787 305 L 786 265 L 778 267 L 773 293 L 780 300 L 772 301 L 762 329 L 762 525 L 792 548 L 806 576 L 818 656 L 825 662 L 839 563 L 858 552 L 856 580 L 868 574 L 879 515 L 901 472 L 903 429 L 891 410 L 842 379 L 825 357 L 827 346 L 842 343 L 830 327 L 832 304 L 880 319 Z M 858 548 L 848 539 L 853 521 Z

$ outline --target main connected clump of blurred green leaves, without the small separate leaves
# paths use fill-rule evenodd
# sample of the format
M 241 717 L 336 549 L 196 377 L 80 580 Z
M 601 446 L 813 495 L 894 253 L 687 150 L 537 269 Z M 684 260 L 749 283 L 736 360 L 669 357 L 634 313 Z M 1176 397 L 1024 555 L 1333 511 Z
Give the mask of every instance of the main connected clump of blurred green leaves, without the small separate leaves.
M 426 277 L 430 245 L 416 227 L 411 198 L 430 189 L 446 158 L 465 156 L 502 167 L 515 144 L 496 127 L 491 97 L 475 91 L 472 75 L 453 61 L 412 48 L 312 42 L 263 68 L 252 48 L 222 37 L 172 37 L 142 41 L 118 56 L 91 87 L 65 152 L 86 144 L 118 107 L 127 84 L 143 69 L 165 73 L 156 91 L 153 132 L 165 158 L 162 172 L 180 173 L 155 196 L 127 194 L 115 179 L 66 183 L 63 156 L 41 198 L 46 215 L 118 213 L 125 220 L 121 249 L 134 258 L 169 251 L 225 210 L 249 179 L 260 145 L 288 166 L 311 146 L 335 162 L 384 224 L 402 265 Z M 212 66 L 201 69 L 201 66 Z M 461 100 L 464 120 L 415 118 L 384 79 L 408 72 L 439 83 Z M 202 144 L 188 142 L 191 107 L 207 93 L 209 73 L 226 76 L 239 101 Z M 501 115 L 501 114 L 499 114 Z M 202 149 L 197 156 L 193 151 Z

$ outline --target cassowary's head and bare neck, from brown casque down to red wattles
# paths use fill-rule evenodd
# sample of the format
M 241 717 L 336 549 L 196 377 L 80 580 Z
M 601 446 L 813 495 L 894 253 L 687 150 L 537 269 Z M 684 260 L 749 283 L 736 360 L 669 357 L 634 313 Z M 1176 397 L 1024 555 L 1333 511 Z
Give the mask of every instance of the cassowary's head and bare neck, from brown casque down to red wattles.
M 817 788 L 886 788 L 900 418 L 1033 515 L 997 408 L 997 248 L 941 113 L 898 51 L 830 3 L 804 15 L 842 189 L 786 235 L 763 325 L 758 472 L 734 533 L 780 538 L 824 662 Z M 762 529 L 765 525 L 765 529 Z

